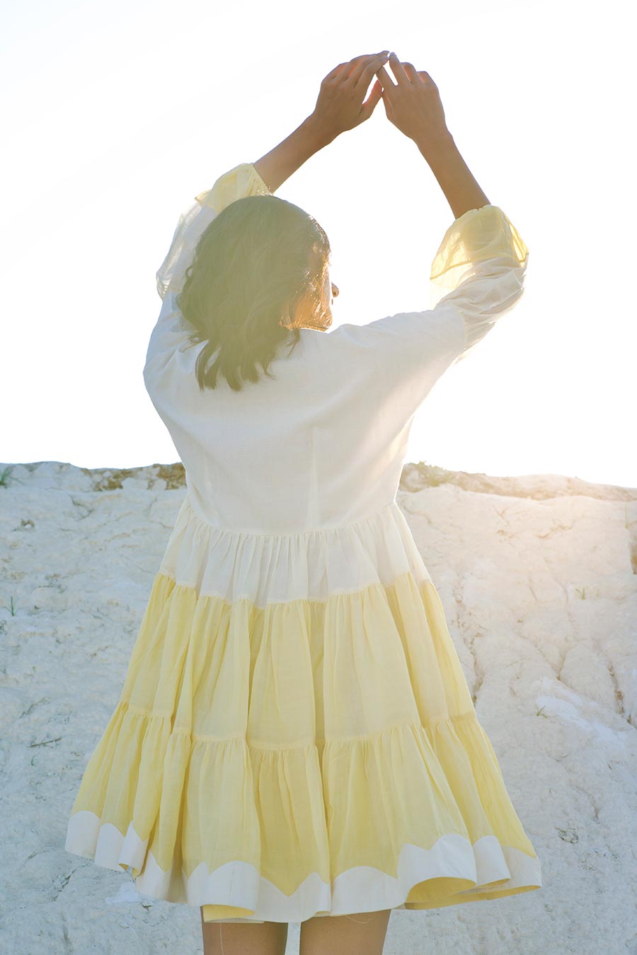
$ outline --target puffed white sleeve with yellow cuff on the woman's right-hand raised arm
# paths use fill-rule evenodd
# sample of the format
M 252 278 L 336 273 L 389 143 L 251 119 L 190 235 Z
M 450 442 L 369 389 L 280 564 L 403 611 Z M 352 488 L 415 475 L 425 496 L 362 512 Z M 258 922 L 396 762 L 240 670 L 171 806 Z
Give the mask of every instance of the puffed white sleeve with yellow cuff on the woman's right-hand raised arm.
M 330 332 L 350 361 L 373 362 L 376 394 L 406 419 L 437 379 L 520 299 L 528 249 L 496 205 L 470 209 L 447 229 L 432 262 L 430 305 Z

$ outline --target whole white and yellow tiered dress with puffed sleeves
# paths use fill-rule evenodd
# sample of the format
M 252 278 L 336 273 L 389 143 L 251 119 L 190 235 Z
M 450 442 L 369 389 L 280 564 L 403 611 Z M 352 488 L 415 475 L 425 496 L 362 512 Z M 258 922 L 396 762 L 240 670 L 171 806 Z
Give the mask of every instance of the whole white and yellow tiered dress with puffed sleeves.
M 264 429 L 251 409 L 239 447 L 228 424 L 235 406 L 225 417 L 213 406 L 228 435 L 219 433 L 218 444 L 226 443 L 215 446 L 216 457 L 207 448 L 213 413 L 202 413 L 199 391 L 192 405 L 183 398 L 185 329 L 166 293 L 181 287 L 215 215 L 268 192 L 251 163 L 220 177 L 181 217 L 158 272 L 165 302 L 145 381 L 189 489 L 119 702 L 75 797 L 67 848 L 97 864 L 130 866 L 140 891 L 202 904 L 206 921 L 257 911 L 256 920 L 278 913 L 287 921 L 288 912 L 322 914 L 330 901 L 333 914 L 357 912 L 371 898 L 390 900 L 377 907 L 424 909 L 537 888 L 536 853 L 478 723 L 438 594 L 392 500 L 403 459 L 395 435 L 406 435 L 405 422 L 454 356 L 520 297 L 526 246 L 498 207 L 469 210 L 447 230 L 432 265 L 432 283 L 452 289 L 434 317 L 398 313 L 325 336 L 310 332 L 315 350 L 329 350 L 326 368 L 336 376 L 321 381 L 329 405 L 317 402 L 298 427 L 281 431 L 293 435 L 298 467 L 268 449 L 255 473 L 249 449 L 261 447 Z M 361 389 L 364 409 L 347 393 L 339 405 L 336 379 L 350 382 L 356 364 L 348 356 L 372 367 L 377 351 L 387 364 L 382 400 L 374 408 Z M 294 414 L 303 400 L 266 412 Z M 351 437 L 334 455 L 347 414 Z M 198 421 L 202 434 L 193 438 Z M 327 469 L 314 481 L 308 518 L 305 487 L 297 500 L 287 481 L 316 476 L 308 443 L 320 451 L 312 442 L 321 431 L 338 473 Z M 202 473 L 213 476 L 212 490 Z M 209 521 L 206 507 L 218 509 Z M 327 526 L 316 526 L 321 519 Z M 273 526 L 264 528 L 265 520 Z M 298 533 L 287 533 L 290 526 Z M 256 907 L 228 903 L 247 900 Z

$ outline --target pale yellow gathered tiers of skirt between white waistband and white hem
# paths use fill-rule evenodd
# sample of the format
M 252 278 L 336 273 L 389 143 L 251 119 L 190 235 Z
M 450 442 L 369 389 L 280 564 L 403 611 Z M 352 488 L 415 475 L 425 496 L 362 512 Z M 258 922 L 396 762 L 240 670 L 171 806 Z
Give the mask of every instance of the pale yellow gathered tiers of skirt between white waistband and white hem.
M 450 833 L 535 857 L 435 587 L 411 573 L 264 608 L 158 574 L 80 810 L 132 826 L 162 870 L 242 859 L 286 895 L 312 872 L 395 876 L 403 845 Z M 469 902 L 455 893 L 471 886 L 423 881 L 406 907 Z M 206 921 L 250 914 L 203 906 Z

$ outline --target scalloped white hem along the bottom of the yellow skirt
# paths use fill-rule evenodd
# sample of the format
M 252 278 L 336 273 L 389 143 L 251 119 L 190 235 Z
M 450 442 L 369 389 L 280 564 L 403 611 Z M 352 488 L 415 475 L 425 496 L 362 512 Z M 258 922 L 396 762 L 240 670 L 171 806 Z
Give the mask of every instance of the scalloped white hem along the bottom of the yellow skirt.
M 290 896 L 244 861 L 227 862 L 214 872 L 201 862 L 190 878 L 172 868 L 164 872 L 153 853 L 147 852 L 147 845 L 148 839 L 142 841 L 132 825 L 124 837 L 111 823 L 102 824 L 95 813 L 78 810 L 69 819 L 64 848 L 74 856 L 93 859 L 103 868 L 138 869 L 135 884 L 141 895 L 194 906 L 233 905 L 254 913 L 215 922 L 300 923 L 314 916 L 406 909 L 404 902 L 413 886 L 436 878 L 473 882 L 462 892 L 453 893 L 458 898 L 477 892 L 541 888 L 540 859 L 500 845 L 496 836 L 478 838 L 473 846 L 457 833 L 441 836 L 431 849 L 407 843 L 400 851 L 397 878 L 360 865 L 342 872 L 330 887 L 314 872 Z M 441 898 L 441 905 L 449 898 Z

